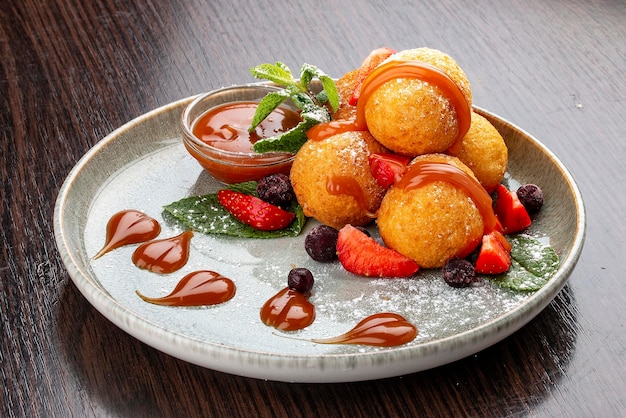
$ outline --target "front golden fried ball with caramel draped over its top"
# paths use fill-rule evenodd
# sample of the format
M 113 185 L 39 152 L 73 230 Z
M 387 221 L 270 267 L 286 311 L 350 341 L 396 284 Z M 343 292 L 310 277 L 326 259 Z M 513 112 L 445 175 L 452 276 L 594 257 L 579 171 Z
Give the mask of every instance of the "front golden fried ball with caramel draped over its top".
M 418 161 L 449 163 L 476 179 L 456 157 L 422 155 L 410 165 Z M 410 190 L 392 186 L 378 209 L 377 222 L 385 245 L 422 268 L 439 268 L 450 258 L 468 256 L 484 231 L 482 214 L 467 192 L 443 180 Z

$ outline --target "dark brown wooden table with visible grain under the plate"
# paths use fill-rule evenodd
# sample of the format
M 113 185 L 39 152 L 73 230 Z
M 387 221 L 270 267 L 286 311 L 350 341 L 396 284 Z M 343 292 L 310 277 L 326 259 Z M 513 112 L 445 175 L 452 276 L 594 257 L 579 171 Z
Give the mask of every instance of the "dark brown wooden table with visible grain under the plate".
M 0 415 L 624 416 L 626 3 L 19 0 L 0 5 Z M 568 166 L 587 238 L 556 299 L 504 341 L 378 381 L 287 384 L 190 365 L 127 335 L 71 282 L 53 209 L 123 123 L 247 69 L 339 76 L 379 46 L 455 57 L 475 104 Z

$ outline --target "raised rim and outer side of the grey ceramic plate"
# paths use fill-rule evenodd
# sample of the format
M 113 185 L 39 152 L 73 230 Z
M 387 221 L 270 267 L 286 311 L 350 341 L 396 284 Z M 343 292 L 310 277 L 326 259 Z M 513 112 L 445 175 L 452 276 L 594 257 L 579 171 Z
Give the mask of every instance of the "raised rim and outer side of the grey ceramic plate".
M 59 190 L 54 208 L 54 236 L 57 250 L 70 278 L 79 291 L 96 310 L 118 328 L 159 351 L 205 368 L 276 381 L 349 382 L 418 372 L 477 353 L 522 328 L 561 291 L 580 257 L 586 235 L 586 213 L 582 194 L 569 170 L 547 146 L 529 132 L 493 112 L 473 106 L 478 113 L 494 118 L 499 123 L 520 131 L 526 140 L 530 140 L 534 146 L 550 158 L 551 163 L 559 169 L 569 186 L 576 206 L 576 231 L 571 250 L 565 258 L 562 258 L 561 265 L 557 270 L 556 275 L 558 277 L 551 279 L 522 304 L 475 328 L 419 345 L 395 347 L 386 351 L 312 355 L 280 354 L 224 346 L 179 334 L 128 309 L 108 295 L 101 286 L 94 283 L 85 274 L 80 268 L 80 264 L 75 261 L 70 252 L 70 246 L 67 244 L 63 214 L 68 195 L 77 180 L 77 176 L 82 168 L 88 165 L 89 161 L 104 147 L 119 140 L 124 132 L 157 115 L 179 108 L 182 111 L 182 107 L 197 96 L 189 96 L 146 112 L 114 129 L 99 140 L 68 173 Z M 442 351 L 440 350 L 442 348 L 446 353 L 439 355 L 437 361 L 432 361 L 433 353 Z M 424 362 L 424 358 L 431 361 Z M 376 373 L 371 372 L 372 368 L 376 370 Z

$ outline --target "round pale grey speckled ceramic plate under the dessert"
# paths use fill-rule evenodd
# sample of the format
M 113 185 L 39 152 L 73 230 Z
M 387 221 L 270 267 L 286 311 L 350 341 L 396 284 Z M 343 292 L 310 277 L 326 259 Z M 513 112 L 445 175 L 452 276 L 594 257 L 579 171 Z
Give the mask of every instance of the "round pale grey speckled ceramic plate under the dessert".
M 227 373 L 291 382 L 344 382 L 398 376 L 476 353 L 515 332 L 550 303 L 565 285 L 583 246 L 585 213 L 580 192 L 558 158 L 513 124 L 476 109 L 501 132 L 509 147 L 506 180 L 536 183 L 546 204 L 531 234 L 547 239 L 561 264 L 541 290 L 526 294 L 486 284 L 454 289 L 440 271 L 411 279 L 368 279 L 322 264 L 304 251 L 305 233 L 275 240 L 195 234 L 189 263 L 157 275 L 135 267 L 136 246 L 94 260 L 110 216 L 137 209 L 158 219 L 161 237 L 180 231 L 162 218 L 162 207 L 186 196 L 216 191 L 219 184 L 187 154 L 179 130 L 187 98 L 147 113 L 94 146 L 63 184 L 54 229 L 63 262 L 87 300 L 130 335 L 185 361 Z M 307 223 L 307 229 L 315 225 Z M 308 328 L 281 333 L 259 317 L 263 303 L 286 286 L 294 266 L 315 275 L 317 318 Z M 184 274 L 208 269 L 234 280 L 237 293 L 212 307 L 149 304 L 169 293 Z M 393 348 L 323 345 L 309 341 L 339 335 L 366 316 L 397 312 L 419 329 L 409 344 Z

